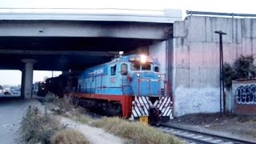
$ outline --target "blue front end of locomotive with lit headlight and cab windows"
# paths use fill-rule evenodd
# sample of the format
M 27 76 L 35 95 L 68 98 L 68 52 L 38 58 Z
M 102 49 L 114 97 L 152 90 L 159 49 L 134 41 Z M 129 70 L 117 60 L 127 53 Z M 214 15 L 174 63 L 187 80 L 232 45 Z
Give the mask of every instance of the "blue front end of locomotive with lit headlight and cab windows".
M 157 59 L 146 55 L 133 55 L 129 58 L 129 86 L 134 96 L 159 97 L 164 91 L 162 74 L 159 73 Z

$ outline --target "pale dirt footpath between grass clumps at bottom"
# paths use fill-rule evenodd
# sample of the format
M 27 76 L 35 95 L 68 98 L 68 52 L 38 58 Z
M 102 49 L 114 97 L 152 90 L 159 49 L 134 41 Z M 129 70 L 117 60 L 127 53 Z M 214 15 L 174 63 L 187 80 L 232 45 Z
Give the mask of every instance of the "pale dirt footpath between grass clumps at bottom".
M 62 118 L 62 123 L 68 125 L 70 128 L 75 128 L 82 132 L 88 138 L 92 144 L 122 144 L 124 143 L 121 138 L 118 138 L 112 134 L 107 133 L 105 130 L 83 125 L 78 122 L 74 122 L 69 118 Z

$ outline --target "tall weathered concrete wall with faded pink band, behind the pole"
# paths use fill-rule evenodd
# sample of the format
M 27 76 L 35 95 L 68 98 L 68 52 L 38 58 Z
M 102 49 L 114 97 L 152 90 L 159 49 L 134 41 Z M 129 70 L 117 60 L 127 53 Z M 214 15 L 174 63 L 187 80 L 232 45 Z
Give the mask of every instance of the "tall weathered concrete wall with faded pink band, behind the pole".
M 189 16 L 174 22 L 174 116 L 214 113 L 219 104 L 219 39 L 224 62 L 256 53 L 256 19 Z

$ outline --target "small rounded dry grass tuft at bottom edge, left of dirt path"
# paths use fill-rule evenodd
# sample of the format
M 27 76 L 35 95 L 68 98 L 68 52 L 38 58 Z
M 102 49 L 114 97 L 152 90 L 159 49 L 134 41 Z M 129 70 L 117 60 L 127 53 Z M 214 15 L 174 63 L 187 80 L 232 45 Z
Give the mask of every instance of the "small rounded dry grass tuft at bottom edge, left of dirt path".
M 60 130 L 51 138 L 52 144 L 89 144 L 86 137 L 74 129 Z

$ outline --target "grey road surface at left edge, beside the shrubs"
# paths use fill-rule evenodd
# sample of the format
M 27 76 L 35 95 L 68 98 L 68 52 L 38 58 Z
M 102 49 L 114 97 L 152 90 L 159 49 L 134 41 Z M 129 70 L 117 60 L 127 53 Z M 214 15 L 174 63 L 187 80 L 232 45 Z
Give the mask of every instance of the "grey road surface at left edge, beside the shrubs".
M 43 110 L 43 106 L 38 100 L 22 100 L 19 98 L 0 99 L 0 143 L 14 144 L 18 142 L 18 128 L 22 117 L 26 113 L 28 106 L 38 106 Z

